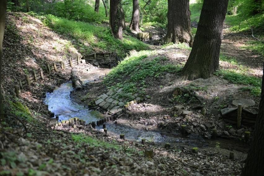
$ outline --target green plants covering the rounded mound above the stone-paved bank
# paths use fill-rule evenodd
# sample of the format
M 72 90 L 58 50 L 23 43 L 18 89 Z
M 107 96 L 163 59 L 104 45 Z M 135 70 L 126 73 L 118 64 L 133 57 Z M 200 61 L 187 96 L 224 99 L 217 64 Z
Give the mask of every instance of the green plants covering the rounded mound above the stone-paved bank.
M 139 93 L 145 95 L 148 81 L 159 80 L 166 73 L 178 73 L 180 65 L 165 64 L 165 56 L 156 56 L 155 51 L 141 51 L 121 61 L 104 78 L 103 84 L 108 88 L 123 88 L 123 95 Z M 130 97 L 126 97 L 130 98 Z

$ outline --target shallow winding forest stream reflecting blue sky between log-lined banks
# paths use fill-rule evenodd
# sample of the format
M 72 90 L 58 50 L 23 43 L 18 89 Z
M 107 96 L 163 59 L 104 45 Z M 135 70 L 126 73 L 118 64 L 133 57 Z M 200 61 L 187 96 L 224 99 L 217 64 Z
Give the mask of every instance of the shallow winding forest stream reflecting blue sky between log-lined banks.
M 103 75 L 105 71 L 109 69 L 99 69 L 96 72 L 88 75 L 82 75 L 81 80 L 83 84 L 86 84 L 94 79 L 98 79 L 99 75 Z M 47 92 L 44 103 L 48 105 L 49 110 L 54 112 L 55 115 L 59 115 L 59 121 L 67 120 L 68 118 L 79 117 L 86 121 L 86 123 L 97 121 L 104 117 L 104 114 L 90 110 L 82 105 L 73 102 L 70 98 L 70 92 L 73 91 L 72 82 L 68 81 L 61 84 L 58 88 L 55 88 L 53 92 Z M 108 133 L 118 136 L 119 134 L 125 134 L 125 138 L 128 140 L 135 140 L 137 142 L 145 138 L 149 142 L 155 144 L 164 144 L 169 142 L 171 144 L 197 146 L 200 148 L 216 147 L 236 150 L 240 152 L 247 152 L 248 145 L 240 144 L 240 141 L 229 139 L 204 139 L 202 136 L 191 134 L 181 135 L 180 131 L 167 133 L 162 131 L 144 131 L 134 128 L 128 128 L 115 124 L 113 121 L 106 123 Z M 96 126 L 96 129 L 102 129 L 102 125 Z M 220 145 L 219 145 L 220 144 Z

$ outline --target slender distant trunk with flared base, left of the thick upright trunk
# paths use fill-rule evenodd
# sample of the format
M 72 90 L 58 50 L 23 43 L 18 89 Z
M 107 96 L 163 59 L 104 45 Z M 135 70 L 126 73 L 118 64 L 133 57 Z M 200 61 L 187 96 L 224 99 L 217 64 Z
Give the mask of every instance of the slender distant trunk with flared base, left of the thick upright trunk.
M 139 29 L 139 0 L 133 0 L 133 14 L 129 28 L 136 32 L 142 32 Z

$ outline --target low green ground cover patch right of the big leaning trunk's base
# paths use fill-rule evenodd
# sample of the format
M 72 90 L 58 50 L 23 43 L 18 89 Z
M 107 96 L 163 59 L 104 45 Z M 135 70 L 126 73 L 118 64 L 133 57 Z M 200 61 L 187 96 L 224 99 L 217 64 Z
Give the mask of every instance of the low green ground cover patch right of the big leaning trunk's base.
M 240 90 L 248 90 L 254 96 L 260 96 L 261 94 L 261 86 L 262 86 L 262 79 L 245 75 L 243 73 L 238 73 L 233 69 L 224 70 L 221 69 L 214 73 L 215 75 L 222 75 L 224 79 L 231 81 L 234 84 L 244 84 L 249 85 Z

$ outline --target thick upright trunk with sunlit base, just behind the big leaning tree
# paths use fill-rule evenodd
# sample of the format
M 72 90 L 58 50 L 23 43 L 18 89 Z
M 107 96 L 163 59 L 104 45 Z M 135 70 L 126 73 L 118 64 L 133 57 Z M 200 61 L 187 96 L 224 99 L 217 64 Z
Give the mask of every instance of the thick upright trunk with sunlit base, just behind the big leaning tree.
M 186 43 L 192 47 L 189 0 L 168 0 L 168 33 L 165 43 Z

